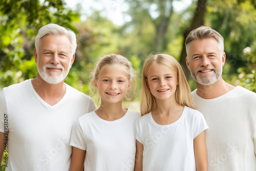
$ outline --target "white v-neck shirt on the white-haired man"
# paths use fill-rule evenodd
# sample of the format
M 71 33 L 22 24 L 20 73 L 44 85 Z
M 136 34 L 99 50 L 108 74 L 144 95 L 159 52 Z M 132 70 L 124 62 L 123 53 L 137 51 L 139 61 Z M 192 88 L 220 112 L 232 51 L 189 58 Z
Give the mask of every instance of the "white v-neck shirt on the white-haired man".
M 69 170 L 72 125 L 96 105 L 91 97 L 68 84 L 66 88 L 65 96 L 53 106 L 40 98 L 31 79 L 0 92 L 0 132 L 6 125 L 9 130 L 6 170 Z

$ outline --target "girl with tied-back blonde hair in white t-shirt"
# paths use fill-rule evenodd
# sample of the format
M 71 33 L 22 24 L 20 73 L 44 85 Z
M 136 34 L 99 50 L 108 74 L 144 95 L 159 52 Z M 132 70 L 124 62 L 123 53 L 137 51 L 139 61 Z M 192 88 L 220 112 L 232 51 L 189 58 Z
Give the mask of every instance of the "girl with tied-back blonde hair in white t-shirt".
M 134 170 L 135 121 L 140 113 L 122 105 L 134 77 L 132 65 L 117 54 L 101 58 L 93 72 L 100 106 L 73 125 L 70 170 Z

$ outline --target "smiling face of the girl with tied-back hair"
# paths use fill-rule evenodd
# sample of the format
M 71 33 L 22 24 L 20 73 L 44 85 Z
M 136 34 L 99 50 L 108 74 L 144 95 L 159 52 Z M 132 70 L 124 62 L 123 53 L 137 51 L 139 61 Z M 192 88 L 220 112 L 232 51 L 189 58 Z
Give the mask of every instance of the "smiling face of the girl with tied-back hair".
M 122 102 L 131 84 L 125 68 L 120 64 L 102 67 L 98 78 L 94 80 L 94 87 L 99 91 L 101 103 Z

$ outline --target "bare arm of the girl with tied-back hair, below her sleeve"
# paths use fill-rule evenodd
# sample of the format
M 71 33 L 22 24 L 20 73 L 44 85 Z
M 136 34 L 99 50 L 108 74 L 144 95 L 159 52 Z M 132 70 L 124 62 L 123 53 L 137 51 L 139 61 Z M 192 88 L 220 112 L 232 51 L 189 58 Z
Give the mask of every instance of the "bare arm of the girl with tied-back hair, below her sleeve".
M 86 151 L 72 146 L 70 171 L 82 171 L 85 157 Z

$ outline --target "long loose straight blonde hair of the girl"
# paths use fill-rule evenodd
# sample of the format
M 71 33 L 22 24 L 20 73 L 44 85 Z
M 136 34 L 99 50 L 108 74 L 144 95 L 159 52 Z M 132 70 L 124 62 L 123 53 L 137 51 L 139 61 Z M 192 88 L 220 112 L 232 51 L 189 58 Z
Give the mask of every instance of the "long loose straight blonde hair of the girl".
M 180 63 L 173 56 L 167 54 L 157 54 L 147 58 L 144 62 L 142 71 L 142 94 L 140 102 L 141 115 L 145 115 L 156 109 L 156 99 L 151 94 L 150 88 L 148 88 L 147 84 L 147 74 L 151 68 L 156 65 L 156 63 L 167 66 L 177 72 L 179 84 L 175 92 L 176 101 L 180 105 L 195 109 L 191 91 Z

